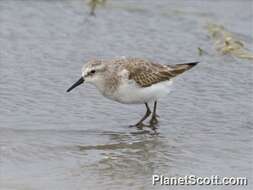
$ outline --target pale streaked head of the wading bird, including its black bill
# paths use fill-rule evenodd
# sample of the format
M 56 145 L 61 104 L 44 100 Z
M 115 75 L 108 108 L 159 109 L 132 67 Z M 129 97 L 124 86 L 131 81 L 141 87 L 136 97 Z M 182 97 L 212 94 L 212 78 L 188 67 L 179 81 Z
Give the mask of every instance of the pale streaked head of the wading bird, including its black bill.
M 82 68 L 81 78 L 75 82 L 67 92 L 70 92 L 75 87 L 82 84 L 84 81 L 92 84 L 101 83 L 104 80 L 104 72 L 106 71 L 106 64 L 101 60 L 88 61 Z

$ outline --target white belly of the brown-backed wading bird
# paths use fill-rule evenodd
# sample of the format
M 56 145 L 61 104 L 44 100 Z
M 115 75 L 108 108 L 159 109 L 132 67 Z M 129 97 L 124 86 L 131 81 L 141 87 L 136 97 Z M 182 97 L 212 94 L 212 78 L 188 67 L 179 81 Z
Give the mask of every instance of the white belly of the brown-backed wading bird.
M 122 83 L 115 93 L 108 98 L 125 104 L 142 104 L 168 95 L 171 91 L 171 85 L 171 80 L 144 88 L 137 86 L 136 83 L 126 82 Z

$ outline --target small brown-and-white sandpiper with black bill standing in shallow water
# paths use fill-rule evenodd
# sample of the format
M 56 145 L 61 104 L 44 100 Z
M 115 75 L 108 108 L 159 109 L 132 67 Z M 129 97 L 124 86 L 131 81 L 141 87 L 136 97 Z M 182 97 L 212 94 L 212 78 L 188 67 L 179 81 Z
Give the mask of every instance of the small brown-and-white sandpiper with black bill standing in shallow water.
M 156 114 L 157 100 L 168 95 L 172 78 L 189 70 L 198 62 L 161 65 L 139 58 L 120 58 L 113 60 L 91 60 L 82 68 L 81 78 L 67 92 L 84 81 L 94 84 L 107 98 L 124 104 L 145 104 L 146 113 L 135 127 L 142 129 L 143 121 L 151 110 L 149 102 L 154 103 L 153 113 L 149 121 L 153 130 L 158 123 Z

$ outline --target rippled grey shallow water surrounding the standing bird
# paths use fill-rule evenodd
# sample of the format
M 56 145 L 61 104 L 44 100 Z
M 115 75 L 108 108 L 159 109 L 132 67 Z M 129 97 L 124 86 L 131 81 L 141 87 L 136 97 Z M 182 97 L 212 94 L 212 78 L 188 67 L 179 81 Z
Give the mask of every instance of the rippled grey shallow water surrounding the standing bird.
M 252 2 L 148 2 L 110 1 L 89 17 L 82 0 L 0 1 L 0 189 L 151 189 L 152 174 L 252 180 L 253 64 L 219 55 L 205 28 L 223 24 L 253 51 Z M 142 105 L 90 85 L 65 93 L 84 62 L 115 56 L 201 61 L 158 104 L 159 135 L 128 128 Z

